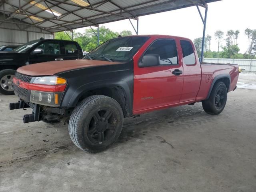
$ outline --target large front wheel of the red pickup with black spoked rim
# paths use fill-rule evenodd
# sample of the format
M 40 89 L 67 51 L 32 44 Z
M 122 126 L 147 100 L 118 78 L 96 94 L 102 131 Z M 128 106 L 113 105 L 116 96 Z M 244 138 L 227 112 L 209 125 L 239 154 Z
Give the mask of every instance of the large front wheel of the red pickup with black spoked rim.
M 86 152 L 100 152 L 113 144 L 122 131 L 124 115 L 118 102 L 94 95 L 82 100 L 70 116 L 70 138 Z

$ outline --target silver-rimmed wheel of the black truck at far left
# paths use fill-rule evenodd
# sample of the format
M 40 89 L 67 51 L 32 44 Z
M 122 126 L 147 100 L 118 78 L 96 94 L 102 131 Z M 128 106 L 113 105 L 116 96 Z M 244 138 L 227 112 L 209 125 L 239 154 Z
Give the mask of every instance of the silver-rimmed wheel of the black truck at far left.
M 4 95 L 13 95 L 12 78 L 16 71 L 12 69 L 4 69 L 0 71 L 0 93 Z

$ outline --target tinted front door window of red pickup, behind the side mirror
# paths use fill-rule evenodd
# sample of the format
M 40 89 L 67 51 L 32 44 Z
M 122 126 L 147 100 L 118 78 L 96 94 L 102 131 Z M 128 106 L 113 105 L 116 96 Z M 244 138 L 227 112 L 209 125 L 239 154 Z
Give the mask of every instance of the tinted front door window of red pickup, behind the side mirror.
M 160 56 L 160 65 L 178 64 L 178 54 L 175 40 L 160 39 L 156 40 L 146 50 L 145 54 L 158 54 Z

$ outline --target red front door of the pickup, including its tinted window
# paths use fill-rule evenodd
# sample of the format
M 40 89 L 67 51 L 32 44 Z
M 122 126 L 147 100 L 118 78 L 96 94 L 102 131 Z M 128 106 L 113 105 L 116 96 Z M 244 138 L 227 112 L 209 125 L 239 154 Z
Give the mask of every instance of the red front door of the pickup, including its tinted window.
M 134 114 L 178 103 L 182 94 L 183 73 L 172 74 L 174 70 L 183 71 L 181 61 L 178 60 L 175 40 L 152 40 L 150 46 L 145 49 L 140 58 L 134 56 Z M 141 62 L 146 54 L 158 54 L 160 65 L 138 67 L 138 62 Z

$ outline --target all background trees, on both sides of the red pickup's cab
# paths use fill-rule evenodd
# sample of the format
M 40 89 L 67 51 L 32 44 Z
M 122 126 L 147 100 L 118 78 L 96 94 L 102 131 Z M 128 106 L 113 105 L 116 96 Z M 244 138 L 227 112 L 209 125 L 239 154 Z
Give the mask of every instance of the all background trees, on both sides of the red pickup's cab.
M 97 33 L 97 30 L 95 30 L 94 32 Z M 78 42 L 84 51 L 90 52 L 97 47 L 98 43 L 97 36 L 94 32 L 90 28 L 85 29 L 83 33 L 74 32 L 73 40 Z M 116 38 L 119 35 L 132 35 L 132 32 L 129 30 L 123 30 L 122 32 L 118 33 L 110 30 L 109 28 L 106 28 L 105 26 L 101 26 L 99 28 L 100 44 L 109 39 Z M 239 53 L 239 35 L 239 30 L 228 30 L 225 35 L 223 31 L 217 30 L 214 33 L 214 37 L 208 34 L 205 38 L 204 43 L 204 57 L 235 59 L 256 58 L 256 29 L 246 28 L 246 30 L 244 30 L 244 35 L 248 37 L 248 50 L 244 54 Z M 71 38 L 72 34 L 69 31 L 55 33 L 55 39 L 71 40 Z M 213 38 L 218 42 L 218 51 L 211 51 L 211 42 Z M 223 41 L 225 42 L 224 46 L 222 45 Z M 202 38 L 196 38 L 194 40 L 194 45 L 196 47 L 196 51 L 198 52 L 198 56 L 200 56 L 202 49 Z

